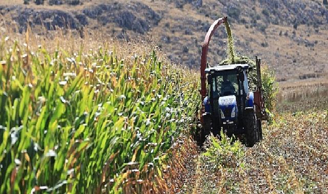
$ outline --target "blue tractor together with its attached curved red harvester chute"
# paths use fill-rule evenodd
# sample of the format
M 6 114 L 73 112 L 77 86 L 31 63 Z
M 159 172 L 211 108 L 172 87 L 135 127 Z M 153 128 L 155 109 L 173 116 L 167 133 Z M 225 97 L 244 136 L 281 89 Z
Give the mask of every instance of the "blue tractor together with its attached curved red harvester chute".
M 257 57 L 256 91 L 250 91 L 248 72 L 249 64 L 229 64 L 209 67 L 207 51 L 210 38 L 220 24 L 227 22 L 227 17 L 214 21 L 208 30 L 201 59 L 201 130 L 203 143 L 207 135 L 220 135 L 223 130 L 228 136 L 245 135 L 248 147 L 263 138 L 261 120 L 266 118 L 263 90 L 261 86 L 261 60 Z

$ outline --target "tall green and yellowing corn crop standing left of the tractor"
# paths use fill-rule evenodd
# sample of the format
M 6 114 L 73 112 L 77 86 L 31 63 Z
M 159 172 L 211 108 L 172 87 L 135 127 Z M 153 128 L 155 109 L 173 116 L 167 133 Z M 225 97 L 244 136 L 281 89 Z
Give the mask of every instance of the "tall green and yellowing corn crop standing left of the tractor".
M 156 52 L 1 38 L 0 193 L 165 189 L 170 147 L 200 104 L 192 71 Z

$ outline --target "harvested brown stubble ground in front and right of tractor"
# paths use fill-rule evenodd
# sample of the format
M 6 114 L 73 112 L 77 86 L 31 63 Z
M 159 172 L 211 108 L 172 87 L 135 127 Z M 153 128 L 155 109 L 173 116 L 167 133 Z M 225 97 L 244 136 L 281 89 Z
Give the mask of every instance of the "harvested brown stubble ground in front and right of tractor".
M 217 167 L 189 146 L 176 193 L 325 193 L 328 112 L 280 113 L 237 167 Z M 191 149 L 191 150 L 190 150 Z

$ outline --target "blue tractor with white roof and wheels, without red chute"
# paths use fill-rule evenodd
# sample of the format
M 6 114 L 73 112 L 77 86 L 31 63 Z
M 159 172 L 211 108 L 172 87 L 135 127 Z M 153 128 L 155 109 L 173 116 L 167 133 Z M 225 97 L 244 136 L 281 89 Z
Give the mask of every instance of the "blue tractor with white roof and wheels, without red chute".
M 228 136 L 245 134 L 249 147 L 262 139 L 262 115 L 256 110 L 260 103 L 254 101 L 254 92 L 249 90 L 249 68 L 248 64 L 231 64 L 205 69 L 208 84 L 203 101 L 203 141 L 210 132 L 218 135 L 221 129 Z

